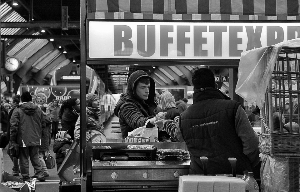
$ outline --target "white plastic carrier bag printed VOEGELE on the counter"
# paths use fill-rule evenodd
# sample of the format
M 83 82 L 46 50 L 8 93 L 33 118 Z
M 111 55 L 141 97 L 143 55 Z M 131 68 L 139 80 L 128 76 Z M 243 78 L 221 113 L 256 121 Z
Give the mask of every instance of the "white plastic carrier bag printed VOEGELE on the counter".
M 151 119 L 148 119 L 143 127 L 139 127 L 128 133 L 128 136 L 124 139 L 125 143 L 149 143 L 157 142 L 158 140 L 158 128 L 154 126 L 147 128 L 147 124 Z

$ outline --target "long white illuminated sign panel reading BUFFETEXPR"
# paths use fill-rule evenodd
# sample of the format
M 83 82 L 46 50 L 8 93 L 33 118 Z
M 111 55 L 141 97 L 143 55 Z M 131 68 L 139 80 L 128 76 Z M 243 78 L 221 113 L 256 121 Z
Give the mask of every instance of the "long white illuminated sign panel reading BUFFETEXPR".
M 300 38 L 300 23 L 88 22 L 89 58 L 239 59 Z

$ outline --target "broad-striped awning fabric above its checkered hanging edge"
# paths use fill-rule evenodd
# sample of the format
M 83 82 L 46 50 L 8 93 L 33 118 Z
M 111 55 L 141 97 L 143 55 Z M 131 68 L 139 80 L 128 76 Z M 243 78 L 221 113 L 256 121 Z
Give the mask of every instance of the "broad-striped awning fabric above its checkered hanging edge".
M 299 16 L 300 0 L 88 0 L 88 13 Z

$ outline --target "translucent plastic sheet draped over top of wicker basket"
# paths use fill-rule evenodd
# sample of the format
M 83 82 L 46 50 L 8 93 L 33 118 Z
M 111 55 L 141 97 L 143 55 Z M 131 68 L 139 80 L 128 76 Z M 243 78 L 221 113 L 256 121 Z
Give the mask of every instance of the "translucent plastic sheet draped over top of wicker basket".
M 261 109 L 265 92 L 282 47 L 300 47 L 300 38 L 242 52 L 238 67 L 236 94 Z

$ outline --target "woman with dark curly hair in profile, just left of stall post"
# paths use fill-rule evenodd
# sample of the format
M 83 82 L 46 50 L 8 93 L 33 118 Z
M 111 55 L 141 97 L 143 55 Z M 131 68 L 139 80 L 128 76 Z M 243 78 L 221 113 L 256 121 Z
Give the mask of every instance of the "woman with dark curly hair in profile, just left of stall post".
M 74 140 L 75 124 L 80 115 L 80 100 L 77 98 L 70 98 L 62 102 L 58 118 L 61 120 L 63 131 L 68 131 L 71 139 Z

